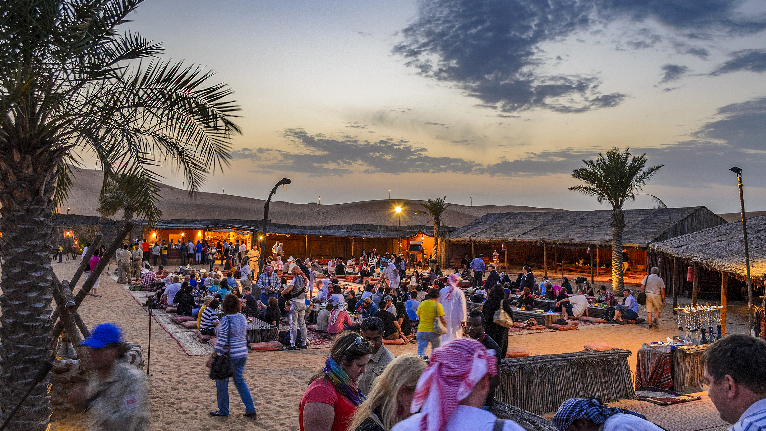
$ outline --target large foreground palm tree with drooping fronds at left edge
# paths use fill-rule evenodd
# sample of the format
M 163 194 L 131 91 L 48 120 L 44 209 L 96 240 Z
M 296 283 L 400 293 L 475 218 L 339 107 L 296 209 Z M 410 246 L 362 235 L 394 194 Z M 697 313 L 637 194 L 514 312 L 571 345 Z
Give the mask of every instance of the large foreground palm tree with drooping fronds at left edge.
M 52 209 L 70 164 L 95 156 L 105 178 L 152 195 L 170 162 L 198 191 L 228 165 L 237 105 L 200 67 L 159 61 L 162 46 L 117 31 L 142 0 L 0 2 L 0 404 L 16 406 L 50 356 Z M 148 59 L 149 61 L 142 61 Z M 47 385 L 8 429 L 46 429 Z M 5 410 L 8 413 L 8 410 Z

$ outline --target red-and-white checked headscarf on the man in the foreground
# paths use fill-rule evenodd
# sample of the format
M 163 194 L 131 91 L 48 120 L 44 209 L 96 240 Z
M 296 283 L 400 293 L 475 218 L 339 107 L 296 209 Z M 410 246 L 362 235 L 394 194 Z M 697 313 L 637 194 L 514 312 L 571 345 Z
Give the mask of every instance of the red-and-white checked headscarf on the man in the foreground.
M 443 431 L 460 401 L 486 374 L 496 376 L 497 358 L 473 338 L 457 338 L 434 349 L 417 380 L 410 411 L 423 413 L 419 431 Z

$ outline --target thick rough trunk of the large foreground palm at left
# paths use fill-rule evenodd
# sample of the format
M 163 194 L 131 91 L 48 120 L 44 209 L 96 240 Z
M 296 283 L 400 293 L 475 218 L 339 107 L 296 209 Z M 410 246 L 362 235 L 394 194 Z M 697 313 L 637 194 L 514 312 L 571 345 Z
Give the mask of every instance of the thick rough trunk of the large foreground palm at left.
M 50 356 L 51 207 L 61 153 L 35 155 L 38 148 L 25 143 L 0 151 L 0 420 L 21 401 L 41 362 Z M 53 413 L 49 389 L 47 384 L 34 387 L 8 429 L 47 429 Z

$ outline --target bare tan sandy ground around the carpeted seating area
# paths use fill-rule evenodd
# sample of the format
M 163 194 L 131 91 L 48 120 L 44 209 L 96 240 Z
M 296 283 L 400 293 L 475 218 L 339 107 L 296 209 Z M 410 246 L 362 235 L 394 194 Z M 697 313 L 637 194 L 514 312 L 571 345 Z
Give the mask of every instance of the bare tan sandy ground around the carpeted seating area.
M 77 262 L 53 264 L 61 279 L 70 278 L 76 265 Z M 99 294 L 103 296 L 87 297 L 80 307 L 80 315 L 86 324 L 89 327 L 107 321 L 119 324 L 125 331 L 126 340 L 142 345 L 146 355 L 149 347 L 149 316 L 146 311 L 122 285 L 117 285 L 105 275 L 101 278 Z M 594 341 L 604 341 L 614 347 L 632 350 L 629 360 L 631 369 L 634 369 L 635 352 L 640 349 L 641 342 L 664 340 L 676 334 L 675 318 L 666 311 L 659 330 L 650 330 L 643 325 L 589 327 L 577 331 L 510 337 L 509 344 L 527 347 L 534 354 L 559 354 L 582 350 L 584 344 Z M 391 346 L 390 350 L 398 355 L 414 353 L 416 347 L 408 344 Z M 231 416 L 213 418 L 208 411 L 216 408 L 215 386 L 208 379 L 208 368 L 205 367 L 207 357 L 186 355 L 175 340 L 153 322 L 151 359 L 147 361 L 149 376 L 146 380 L 152 410 L 151 429 L 299 429 L 300 397 L 309 377 L 323 367 L 327 352 L 326 349 L 316 349 L 251 353 L 244 378 L 253 394 L 257 421 L 241 416 L 244 406 L 233 384 L 230 385 Z M 85 429 L 85 424 L 82 416 L 70 414 L 66 419 L 54 422 L 52 429 Z

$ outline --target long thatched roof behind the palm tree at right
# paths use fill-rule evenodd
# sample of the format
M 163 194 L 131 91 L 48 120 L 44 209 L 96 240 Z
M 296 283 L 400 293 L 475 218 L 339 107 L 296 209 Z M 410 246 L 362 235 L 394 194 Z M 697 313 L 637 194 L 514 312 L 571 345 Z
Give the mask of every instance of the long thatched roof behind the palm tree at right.
M 646 248 L 650 242 L 725 224 L 704 206 L 625 209 L 623 243 Z M 669 217 L 668 217 L 669 216 Z M 611 245 L 611 210 L 493 212 L 468 223 L 450 242 L 546 242 L 558 245 Z

